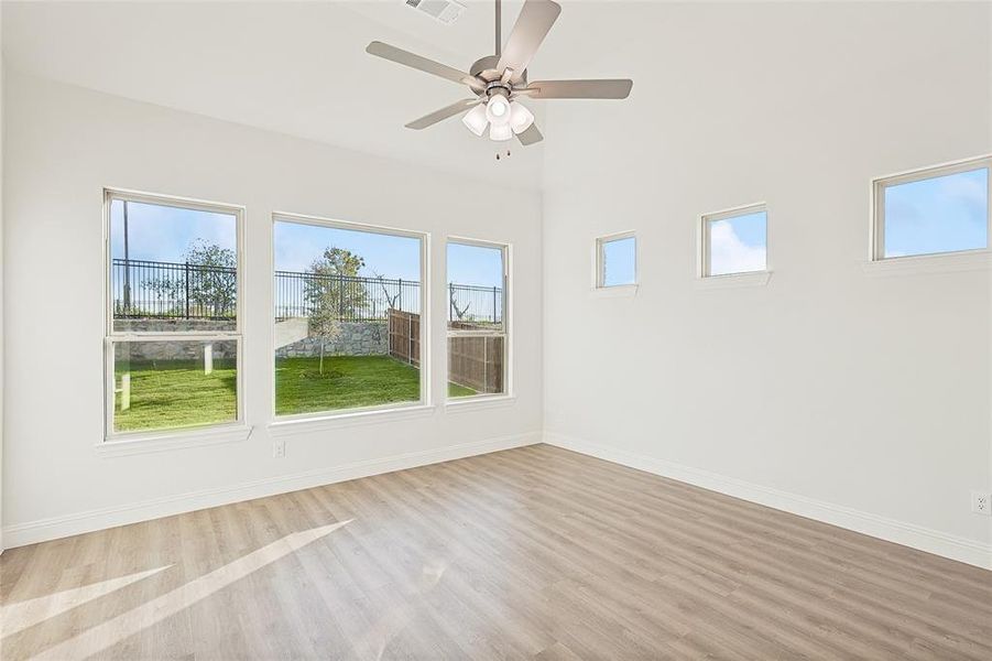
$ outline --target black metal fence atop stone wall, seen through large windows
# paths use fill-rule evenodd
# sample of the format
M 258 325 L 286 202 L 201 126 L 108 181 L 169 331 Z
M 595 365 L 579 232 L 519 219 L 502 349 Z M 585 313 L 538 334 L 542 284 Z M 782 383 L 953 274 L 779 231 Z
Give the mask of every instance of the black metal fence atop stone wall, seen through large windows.
M 237 282 L 237 270 L 230 267 L 115 259 L 113 316 L 231 319 Z M 276 271 L 273 293 L 279 319 L 310 316 L 319 306 L 341 321 L 384 321 L 391 307 L 421 312 L 416 280 Z M 502 322 L 501 288 L 451 283 L 447 295 L 450 321 Z

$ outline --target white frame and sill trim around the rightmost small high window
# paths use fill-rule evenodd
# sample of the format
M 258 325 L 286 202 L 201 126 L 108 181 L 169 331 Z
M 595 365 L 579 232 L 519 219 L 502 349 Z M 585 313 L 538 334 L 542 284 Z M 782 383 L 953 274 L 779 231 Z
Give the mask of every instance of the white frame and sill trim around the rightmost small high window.
M 871 181 L 871 212 L 869 215 L 869 248 L 865 272 L 872 274 L 912 274 L 973 271 L 989 268 L 990 246 L 971 250 L 927 252 L 885 257 L 885 188 L 947 176 L 972 170 L 989 171 L 989 213 L 986 243 L 992 241 L 992 154 L 961 159 L 949 163 L 917 167 L 894 174 L 876 176 Z

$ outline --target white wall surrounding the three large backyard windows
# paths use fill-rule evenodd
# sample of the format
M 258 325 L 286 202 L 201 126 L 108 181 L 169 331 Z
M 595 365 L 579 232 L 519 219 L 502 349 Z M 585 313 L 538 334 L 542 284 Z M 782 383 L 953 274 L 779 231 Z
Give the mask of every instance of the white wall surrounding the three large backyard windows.
M 541 203 L 428 169 L 50 83 L 9 71 L 3 199 L 8 546 L 533 442 L 542 424 Z M 103 186 L 247 206 L 244 387 L 248 441 L 107 457 L 102 435 Z M 514 213 L 486 205 L 514 199 Z M 513 246 L 509 408 L 301 433 L 273 458 L 272 210 L 432 232 L 443 291 L 446 235 Z M 436 319 L 444 296 L 434 296 Z M 70 326 L 70 327 L 67 327 Z M 446 383 L 444 324 L 432 328 L 435 393 Z M 437 398 L 436 403 L 438 402 Z

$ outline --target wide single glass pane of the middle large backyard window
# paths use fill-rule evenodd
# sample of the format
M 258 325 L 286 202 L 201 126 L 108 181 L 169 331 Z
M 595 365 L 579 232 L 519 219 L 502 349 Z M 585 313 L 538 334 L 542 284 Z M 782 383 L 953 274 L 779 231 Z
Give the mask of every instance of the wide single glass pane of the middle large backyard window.
M 277 415 L 421 400 L 421 240 L 275 223 Z

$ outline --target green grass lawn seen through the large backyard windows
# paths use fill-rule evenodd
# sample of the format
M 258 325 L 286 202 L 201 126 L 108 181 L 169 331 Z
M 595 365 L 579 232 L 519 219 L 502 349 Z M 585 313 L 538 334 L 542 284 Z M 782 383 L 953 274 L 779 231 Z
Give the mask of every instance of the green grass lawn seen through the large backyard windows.
M 120 387 L 118 372 L 117 386 Z M 194 360 L 131 362 L 131 408 L 115 407 L 115 430 L 152 430 L 235 420 L 236 372 L 231 360 L 215 360 L 204 375 Z M 357 409 L 419 400 L 419 370 L 389 356 L 281 358 L 275 364 L 277 415 Z M 476 391 L 448 383 L 448 397 Z M 118 395 L 120 397 L 120 395 Z

